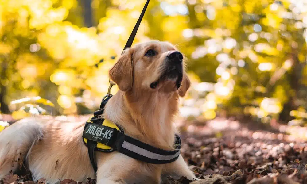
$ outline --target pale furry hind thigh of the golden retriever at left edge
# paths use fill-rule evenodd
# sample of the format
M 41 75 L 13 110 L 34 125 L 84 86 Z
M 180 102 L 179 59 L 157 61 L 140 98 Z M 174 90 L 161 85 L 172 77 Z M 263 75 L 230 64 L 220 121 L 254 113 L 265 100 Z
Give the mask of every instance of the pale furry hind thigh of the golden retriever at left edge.
M 0 179 L 21 167 L 31 148 L 43 137 L 36 118 L 25 118 L 0 132 Z

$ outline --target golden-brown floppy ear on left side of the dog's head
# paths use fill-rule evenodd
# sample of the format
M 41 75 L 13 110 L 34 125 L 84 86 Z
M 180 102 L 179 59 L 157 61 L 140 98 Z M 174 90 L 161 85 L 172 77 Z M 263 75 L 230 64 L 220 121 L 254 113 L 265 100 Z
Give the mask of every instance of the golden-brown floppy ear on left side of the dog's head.
M 114 81 L 122 91 L 130 90 L 132 87 L 132 54 L 133 49 L 125 49 L 115 65 L 109 70 L 110 79 Z

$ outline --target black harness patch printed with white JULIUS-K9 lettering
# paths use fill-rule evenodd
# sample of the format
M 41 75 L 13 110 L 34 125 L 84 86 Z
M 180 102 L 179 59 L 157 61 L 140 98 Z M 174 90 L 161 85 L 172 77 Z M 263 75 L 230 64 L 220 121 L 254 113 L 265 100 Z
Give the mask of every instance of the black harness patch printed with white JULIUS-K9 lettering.
M 90 124 L 84 130 L 83 137 L 107 145 L 112 137 L 113 131 L 114 128 L 111 127 Z

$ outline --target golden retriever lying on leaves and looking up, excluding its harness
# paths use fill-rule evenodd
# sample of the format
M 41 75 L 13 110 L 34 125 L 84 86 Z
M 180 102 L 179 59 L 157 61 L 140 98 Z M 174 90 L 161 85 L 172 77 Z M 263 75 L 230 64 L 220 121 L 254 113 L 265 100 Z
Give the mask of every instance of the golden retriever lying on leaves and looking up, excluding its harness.
M 174 116 L 179 97 L 190 86 L 183 56 L 168 42 L 148 41 L 124 50 L 109 71 L 119 91 L 108 101 L 103 117 L 126 135 L 151 146 L 174 150 Z M 99 85 L 99 81 L 97 81 Z M 97 184 L 161 183 L 162 176 L 197 179 L 180 155 L 168 164 L 150 164 L 117 151 L 95 151 L 95 173 L 82 140 L 85 122 L 25 118 L 0 132 L 0 178 L 25 160 L 33 180 L 63 179 Z

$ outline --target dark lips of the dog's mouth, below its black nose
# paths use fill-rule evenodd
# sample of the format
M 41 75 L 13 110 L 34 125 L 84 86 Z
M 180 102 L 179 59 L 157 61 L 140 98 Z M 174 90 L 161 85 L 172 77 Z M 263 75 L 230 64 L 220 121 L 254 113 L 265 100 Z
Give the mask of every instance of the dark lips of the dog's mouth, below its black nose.
M 161 82 L 168 79 L 170 80 L 176 79 L 175 85 L 178 89 L 181 86 L 182 77 L 183 74 L 181 68 L 178 68 L 176 66 L 167 67 L 166 70 L 160 76 L 160 78 L 150 84 L 150 88 L 156 89 Z

